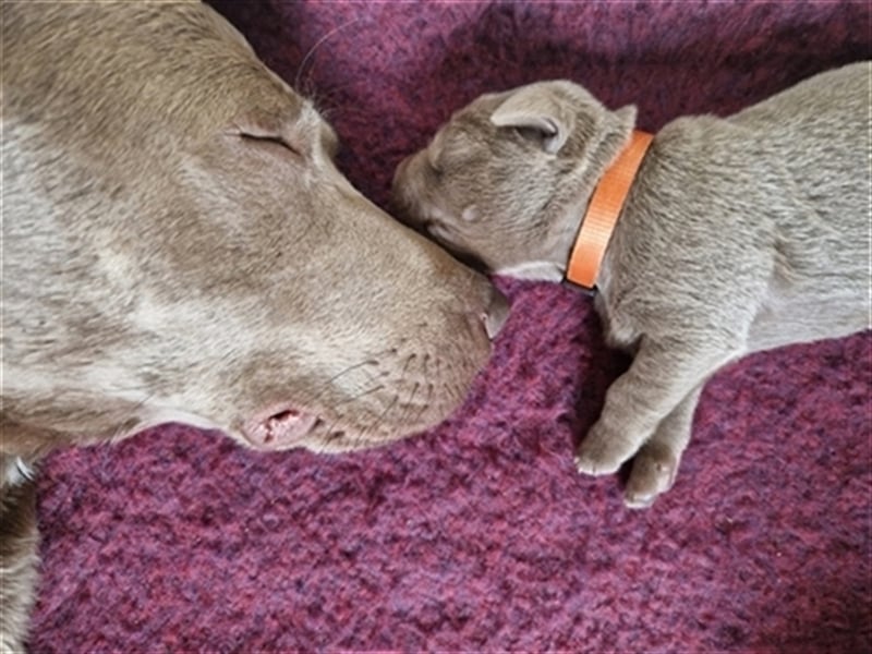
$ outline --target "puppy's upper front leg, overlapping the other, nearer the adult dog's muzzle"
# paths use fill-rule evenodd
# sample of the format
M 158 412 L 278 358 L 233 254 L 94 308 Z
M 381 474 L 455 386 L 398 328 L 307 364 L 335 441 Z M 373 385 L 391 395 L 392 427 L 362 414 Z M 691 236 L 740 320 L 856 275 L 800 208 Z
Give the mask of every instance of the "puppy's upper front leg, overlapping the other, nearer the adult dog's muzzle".
M 597 423 L 576 455 L 580 472 L 610 474 L 697 387 L 740 349 L 643 338 L 630 370 L 609 387 Z

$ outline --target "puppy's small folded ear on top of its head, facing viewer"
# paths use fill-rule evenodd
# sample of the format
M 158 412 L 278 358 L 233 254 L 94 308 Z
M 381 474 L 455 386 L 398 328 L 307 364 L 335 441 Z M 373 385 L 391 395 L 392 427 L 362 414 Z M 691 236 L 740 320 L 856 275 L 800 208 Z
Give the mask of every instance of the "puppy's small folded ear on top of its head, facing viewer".
M 514 128 L 531 135 L 546 153 L 557 154 L 572 130 L 572 112 L 561 98 L 541 85 L 525 86 L 511 94 L 491 114 L 498 128 Z

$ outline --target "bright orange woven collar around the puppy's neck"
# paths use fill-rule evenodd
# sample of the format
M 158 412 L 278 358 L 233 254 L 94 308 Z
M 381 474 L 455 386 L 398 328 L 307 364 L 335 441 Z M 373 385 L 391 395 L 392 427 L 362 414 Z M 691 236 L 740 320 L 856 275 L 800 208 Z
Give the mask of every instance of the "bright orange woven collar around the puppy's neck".
M 596 277 L 600 275 L 600 266 L 615 223 L 653 138 L 647 132 L 633 130 L 629 145 L 608 167 L 596 185 L 569 255 L 566 267 L 568 281 L 589 290 L 596 286 Z

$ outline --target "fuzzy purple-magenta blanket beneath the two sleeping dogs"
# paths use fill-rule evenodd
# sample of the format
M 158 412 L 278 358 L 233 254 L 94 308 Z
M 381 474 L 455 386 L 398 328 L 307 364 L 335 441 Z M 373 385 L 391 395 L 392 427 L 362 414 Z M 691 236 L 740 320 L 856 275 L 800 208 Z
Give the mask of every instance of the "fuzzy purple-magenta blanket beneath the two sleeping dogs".
M 872 45 L 867 2 L 217 7 L 386 207 L 399 160 L 482 92 L 568 77 L 655 131 Z M 261 455 L 167 425 L 52 456 L 33 651 L 872 649 L 870 334 L 720 372 L 675 487 L 638 512 L 572 463 L 627 365 L 590 298 L 499 284 L 493 361 L 427 434 Z

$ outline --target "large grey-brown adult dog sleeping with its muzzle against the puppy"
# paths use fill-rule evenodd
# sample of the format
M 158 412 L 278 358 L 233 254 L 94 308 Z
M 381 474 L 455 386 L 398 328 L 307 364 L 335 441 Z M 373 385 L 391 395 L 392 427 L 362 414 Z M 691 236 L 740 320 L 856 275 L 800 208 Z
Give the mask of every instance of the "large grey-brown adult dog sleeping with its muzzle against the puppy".
M 0 649 L 31 465 L 167 420 L 261 449 L 440 421 L 506 302 L 338 172 L 313 105 L 198 2 L 2 5 Z

